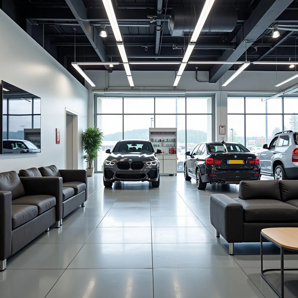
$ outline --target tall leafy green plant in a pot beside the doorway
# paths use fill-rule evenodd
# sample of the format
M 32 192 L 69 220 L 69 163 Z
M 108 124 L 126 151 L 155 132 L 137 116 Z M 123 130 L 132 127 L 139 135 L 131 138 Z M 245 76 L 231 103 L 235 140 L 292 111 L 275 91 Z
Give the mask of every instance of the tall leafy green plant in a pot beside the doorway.
M 86 169 L 88 177 L 94 174 L 92 162 L 97 159 L 97 153 L 101 149 L 103 137 L 103 132 L 96 126 L 88 127 L 82 133 L 83 150 L 86 153 L 83 158 L 86 159 L 88 163 L 88 168 Z

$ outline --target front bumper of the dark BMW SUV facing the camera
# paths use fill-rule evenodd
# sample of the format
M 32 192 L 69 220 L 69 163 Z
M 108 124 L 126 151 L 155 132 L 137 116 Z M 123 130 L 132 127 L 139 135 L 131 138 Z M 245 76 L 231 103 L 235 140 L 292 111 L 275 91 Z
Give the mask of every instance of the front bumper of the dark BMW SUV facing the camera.
M 103 179 L 105 181 L 149 181 L 154 182 L 159 178 L 159 167 L 144 167 L 142 170 L 119 170 L 115 166 L 105 166 Z

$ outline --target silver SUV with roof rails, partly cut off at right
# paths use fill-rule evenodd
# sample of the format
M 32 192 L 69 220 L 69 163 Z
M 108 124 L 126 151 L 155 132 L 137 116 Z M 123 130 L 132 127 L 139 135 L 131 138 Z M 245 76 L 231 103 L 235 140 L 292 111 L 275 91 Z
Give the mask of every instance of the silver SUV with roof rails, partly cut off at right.
M 281 131 L 269 146 L 254 152 L 260 159 L 261 174 L 277 180 L 298 179 L 298 133 Z

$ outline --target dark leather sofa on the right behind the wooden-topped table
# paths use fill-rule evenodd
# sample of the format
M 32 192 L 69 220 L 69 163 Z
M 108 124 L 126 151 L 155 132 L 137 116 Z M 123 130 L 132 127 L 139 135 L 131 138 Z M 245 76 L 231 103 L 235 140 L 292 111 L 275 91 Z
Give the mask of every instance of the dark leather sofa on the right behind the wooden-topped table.
M 241 181 L 238 198 L 211 195 L 210 220 L 229 243 L 260 242 L 260 231 L 271 227 L 298 227 L 298 181 Z

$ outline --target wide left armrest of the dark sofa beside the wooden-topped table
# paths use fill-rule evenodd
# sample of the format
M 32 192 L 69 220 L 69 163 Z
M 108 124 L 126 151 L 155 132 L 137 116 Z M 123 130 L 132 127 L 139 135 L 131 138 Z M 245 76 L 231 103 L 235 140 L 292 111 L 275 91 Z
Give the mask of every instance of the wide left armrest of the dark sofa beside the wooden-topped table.
M 228 243 L 243 242 L 243 207 L 226 195 L 211 195 L 210 220 L 212 226 Z

